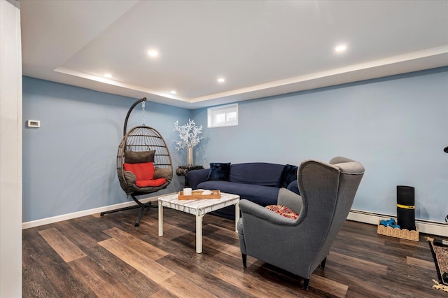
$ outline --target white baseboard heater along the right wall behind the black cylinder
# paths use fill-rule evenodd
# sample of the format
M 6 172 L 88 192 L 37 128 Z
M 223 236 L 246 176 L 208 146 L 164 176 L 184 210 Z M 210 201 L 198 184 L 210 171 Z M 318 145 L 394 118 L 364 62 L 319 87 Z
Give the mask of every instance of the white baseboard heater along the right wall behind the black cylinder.
M 378 225 L 379 220 L 386 220 L 389 218 L 395 218 L 395 220 L 397 219 L 396 215 L 379 214 L 351 209 L 347 220 Z M 433 222 L 430 220 L 416 219 L 415 225 L 419 230 L 419 233 L 448 237 L 448 225 L 445 222 Z

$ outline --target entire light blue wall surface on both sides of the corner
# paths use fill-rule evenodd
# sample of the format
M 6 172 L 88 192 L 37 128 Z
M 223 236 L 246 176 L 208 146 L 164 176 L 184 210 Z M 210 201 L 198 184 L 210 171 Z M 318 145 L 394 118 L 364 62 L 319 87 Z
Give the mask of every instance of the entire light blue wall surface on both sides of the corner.
M 137 99 L 24 77 L 23 221 L 128 201 L 118 185 L 116 150 Z M 207 129 L 207 108 L 193 111 L 148 102 L 146 124 L 170 146 L 174 122 L 204 127 L 195 164 L 357 159 L 366 168 L 353 208 L 396 214 L 396 185 L 416 192 L 416 218 L 448 214 L 448 67 L 278 97 L 241 101 L 239 126 Z M 132 113 L 128 129 L 141 124 Z M 183 187 L 183 177 L 165 192 Z

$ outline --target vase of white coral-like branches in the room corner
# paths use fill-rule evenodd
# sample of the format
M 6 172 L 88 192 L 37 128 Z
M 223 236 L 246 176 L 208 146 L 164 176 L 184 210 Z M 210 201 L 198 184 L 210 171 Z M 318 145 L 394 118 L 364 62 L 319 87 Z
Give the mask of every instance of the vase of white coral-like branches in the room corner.
M 179 125 L 179 121 L 174 123 L 174 131 L 179 132 L 179 141 L 176 143 L 176 150 L 187 149 L 187 165 L 193 166 L 193 147 L 200 143 L 202 136 L 202 125 L 197 126 L 194 120 L 188 119 L 186 125 Z

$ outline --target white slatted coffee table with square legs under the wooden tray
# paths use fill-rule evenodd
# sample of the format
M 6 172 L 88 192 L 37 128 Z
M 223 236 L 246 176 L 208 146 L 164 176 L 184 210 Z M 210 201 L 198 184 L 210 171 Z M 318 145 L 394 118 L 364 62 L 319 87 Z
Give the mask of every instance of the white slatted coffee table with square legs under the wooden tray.
M 239 195 L 221 192 L 221 199 L 179 200 L 178 193 L 159 197 L 159 236 L 163 236 L 163 207 L 196 215 L 196 253 L 202 253 L 202 217 L 218 209 L 235 205 L 235 232 L 239 220 Z

